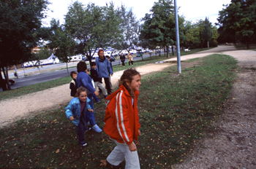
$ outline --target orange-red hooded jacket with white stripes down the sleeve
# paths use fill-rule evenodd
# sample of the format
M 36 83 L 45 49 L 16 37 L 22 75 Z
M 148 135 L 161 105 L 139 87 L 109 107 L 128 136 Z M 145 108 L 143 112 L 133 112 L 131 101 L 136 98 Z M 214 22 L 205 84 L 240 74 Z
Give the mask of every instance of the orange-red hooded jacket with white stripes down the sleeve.
M 107 108 L 104 131 L 111 139 L 121 144 L 132 144 L 133 140 L 138 141 L 140 123 L 137 101 L 139 91 L 135 91 L 134 95 L 134 105 L 132 106 L 132 96 L 121 84 L 116 92 L 105 99 Z

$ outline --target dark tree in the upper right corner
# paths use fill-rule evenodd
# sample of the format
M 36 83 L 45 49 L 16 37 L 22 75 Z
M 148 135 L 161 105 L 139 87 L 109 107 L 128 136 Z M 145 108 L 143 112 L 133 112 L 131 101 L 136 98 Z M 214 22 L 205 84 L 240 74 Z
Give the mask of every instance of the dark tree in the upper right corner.
M 219 39 L 221 42 L 238 42 L 249 44 L 255 42 L 256 36 L 256 1 L 231 0 L 219 11 Z

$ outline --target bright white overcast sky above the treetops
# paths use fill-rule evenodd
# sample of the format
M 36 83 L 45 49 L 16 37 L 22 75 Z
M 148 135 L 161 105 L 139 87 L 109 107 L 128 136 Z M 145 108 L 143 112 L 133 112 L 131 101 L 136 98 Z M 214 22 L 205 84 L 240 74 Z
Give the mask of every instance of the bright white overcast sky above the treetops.
M 43 20 L 45 26 L 50 26 L 51 18 L 56 18 L 60 20 L 60 23 L 64 23 L 64 15 L 67 14 L 67 8 L 69 4 L 72 4 L 72 0 L 49 0 L 50 4 L 48 7 L 48 18 Z M 83 4 L 88 4 L 89 2 L 95 3 L 99 6 L 105 6 L 107 0 L 78 0 Z M 157 0 L 113 0 L 115 6 L 121 6 L 121 3 L 127 8 L 132 8 L 137 19 L 145 16 L 149 13 L 151 7 L 153 7 L 154 1 Z M 191 20 L 196 22 L 196 20 L 205 19 L 209 17 L 211 23 L 217 23 L 217 17 L 219 10 L 222 10 L 222 4 L 230 4 L 230 0 L 176 0 L 179 9 L 179 15 L 184 15 L 185 20 Z M 53 11 L 53 12 L 51 12 Z

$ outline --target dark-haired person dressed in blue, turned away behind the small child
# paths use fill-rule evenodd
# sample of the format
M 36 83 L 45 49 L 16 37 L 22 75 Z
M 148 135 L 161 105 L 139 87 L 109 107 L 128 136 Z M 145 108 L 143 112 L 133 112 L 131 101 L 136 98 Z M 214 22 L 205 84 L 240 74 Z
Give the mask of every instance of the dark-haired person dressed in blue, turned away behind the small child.
M 94 110 L 94 101 L 92 99 L 93 94 L 95 94 L 98 97 L 99 93 L 97 93 L 97 91 L 94 90 L 94 86 L 91 83 L 91 77 L 88 74 L 86 74 L 86 69 L 87 69 L 86 62 L 80 61 L 78 63 L 77 68 L 78 68 L 78 76 L 77 76 L 78 88 L 79 87 L 86 88 L 87 98 L 89 98 L 89 105 L 91 106 L 91 109 L 93 109 L 93 113 L 91 113 L 90 115 L 87 115 L 85 125 L 91 125 L 92 130 L 94 130 L 97 133 L 101 133 L 102 130 L 96 124 L 96 120 L 94 117 L 95 110 Z

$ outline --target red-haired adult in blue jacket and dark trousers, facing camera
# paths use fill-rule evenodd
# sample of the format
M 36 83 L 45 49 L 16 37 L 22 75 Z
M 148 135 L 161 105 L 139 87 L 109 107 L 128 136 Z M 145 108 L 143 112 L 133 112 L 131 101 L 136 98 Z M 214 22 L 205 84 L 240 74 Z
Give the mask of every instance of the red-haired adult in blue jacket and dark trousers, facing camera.
M 104 56 L 104 50 L 99 50 L 98 52 L 99 58 L 95 60 L 97 73 L 99 75 L 100 82 L 102 82 L 102 78 L 104 78 L 104 82 L 106 84 L 108 95 L 111 94 L 109 75 L 113 76 L 113 71 L 110 67 L 110 63 L 107 58 Z

